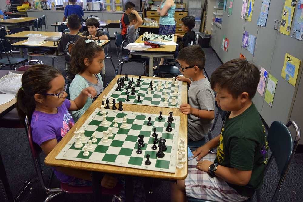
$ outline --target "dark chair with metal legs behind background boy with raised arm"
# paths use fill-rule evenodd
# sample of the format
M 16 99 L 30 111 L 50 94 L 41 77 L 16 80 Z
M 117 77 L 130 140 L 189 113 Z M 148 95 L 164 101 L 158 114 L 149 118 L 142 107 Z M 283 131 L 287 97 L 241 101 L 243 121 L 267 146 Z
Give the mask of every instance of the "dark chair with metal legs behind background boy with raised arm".
M 115 76 L 118 74 L 119 66 L 121 65 L 121 69 L 120 69 L 120 74 L 121 74 L 123 64 L 124 63 L 129 63 L 129 62 L 141 63 L 143 65 L 144 73 L 146 75 L 144 59 L 142 59 L 142 60 L 139 60 L 139 59 L 132 60 L 132 59 L 128 59 L 129 56 L 123 57 L 122 54 L 121 54 L 121 51 L 120 51 L 120 46 L 122 45 L 122 41 L 123 41 L 122 40 L 122 35 L 118 34 L 116 31 L 115 31 L 114 35 L 115 35 L 115 44 L 116 44 L 117 57 L 118 57 L 118 61 L 119 61 Z

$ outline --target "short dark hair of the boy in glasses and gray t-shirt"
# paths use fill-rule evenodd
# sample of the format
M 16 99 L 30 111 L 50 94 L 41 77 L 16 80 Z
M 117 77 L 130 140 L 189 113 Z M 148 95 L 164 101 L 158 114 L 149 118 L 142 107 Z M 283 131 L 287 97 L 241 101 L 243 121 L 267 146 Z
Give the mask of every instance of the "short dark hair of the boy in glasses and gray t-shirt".
M 190 45 L 182 48 L 178 53 L 177 60 L 182 60 L 189 66 L 197 65 L 203 69 L 205 65 L 205 54 L 199 45 Z

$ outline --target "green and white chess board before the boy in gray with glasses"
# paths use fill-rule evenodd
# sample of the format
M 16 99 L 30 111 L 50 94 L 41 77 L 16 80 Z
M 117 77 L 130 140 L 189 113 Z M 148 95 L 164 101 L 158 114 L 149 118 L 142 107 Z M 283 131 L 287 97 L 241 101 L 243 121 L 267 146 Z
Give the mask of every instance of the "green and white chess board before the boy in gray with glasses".
M 148 106 L 156 106 L 156 107 L 170 107 L 170 108 L 180 108 L 180 105 L 182 104 L 182 81 L 179 81 L 177 84 L 178 88 L 178 95 L 173 95 L 175 86 L 172 85 L 172 80 L 168 80 L 168 89 L 165 89 L 165 82 L 166 79 L 154 79 L 154 85 L 155 88 L 151 91 L 151 94 L 148 94 L 148 88 L 150 87 L 150 82 L 152 78 L 141 78 L 140 87 L 137 87 L 137 79 L 138 77 L 133 77 L 134 83 L 132 85 L 135 85 L 135 95 L 131 95 L 131 88 L 128 89 L 129 91 L 129 100 L 126 102 L 127 94 L 126 87 L 128 87 L 128 81 L 124 81 L 125 85 L 123 88 L 121 88 L 121 91 L 116 91 L 116 88 L 118 84 L 116 83 L 114 87 L 109 91 L 106 98 L 113 97 L 118 103 L 118 101 L 122 101 L 123 104 L 138 104 L 138 105 L 148 105 Z M 131 80 L 131 77 L 128 77 L 128 80 Z M 162 81 L 162 88 L 160 91 L 157 91 L 157 85 L 159 84 L 159 81 Z M 167 104 L 164 104 L 164 95 L 168 94 L 168 100 Z M 138 95 L 140 95 L 141 102 L 138 102 Z M 176 105 L 171 105 L 172 98 L 175 97 Z M 106 104 L 104 104 L 106 105 Z

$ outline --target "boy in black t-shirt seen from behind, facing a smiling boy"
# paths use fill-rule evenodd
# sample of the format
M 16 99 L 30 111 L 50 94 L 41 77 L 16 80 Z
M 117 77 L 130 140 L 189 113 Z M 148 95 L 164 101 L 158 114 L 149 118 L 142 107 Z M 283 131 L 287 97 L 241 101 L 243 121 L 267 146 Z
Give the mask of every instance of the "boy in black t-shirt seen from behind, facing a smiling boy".
M 75 45 L 76 41 L 81 38 L 81 36 L 78 35 L 78 31 L 82 27 L 82 25 L 81 18 L 76 14 L 69 15 L 67 21 L 68 22 L 66 23 L 66 25 L 70 32 L 61 36 L 60 41 L 58 43 L 58 51 L 64 52 L 64 57 L 66 61 L 66 80 L 71 83 L 72 80 L 75 78 L 75 75 L 71 72 L 69 66 L 71 48 L 73 45 Z

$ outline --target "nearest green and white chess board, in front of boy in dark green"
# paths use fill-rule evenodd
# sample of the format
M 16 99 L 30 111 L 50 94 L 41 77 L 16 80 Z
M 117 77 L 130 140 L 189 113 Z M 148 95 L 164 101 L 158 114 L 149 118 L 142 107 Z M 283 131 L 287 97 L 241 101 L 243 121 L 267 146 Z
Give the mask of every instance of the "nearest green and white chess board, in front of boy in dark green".
M 171 123 L 172 132 L 167 132 L 165 128 L 168 126 L 168 116 L 162 114 L 163 119 L 159 120 L 158 114 L 145 114 L 130 111 L 105 110 L 106 120 L 108 125 L 102 125 L 103 120 L 101 109 L 97 108 L 85 123 L 78 130 L 85 130 L 86 140 L 82 141 L 81 148 L 75 148 L 75 136 L 68 142 L 67 145 L 60 151 L 56 159 L 66 159 L 73 161 L 85 161 L 98 164 L 110 164 L 122 167 L 131 167 L 151 171 L 175 173 L 180 117 L 173 117 Z M 123 128 L 122 119 L 126 116 L 127 127 Z M 151 117 L 151 126 L 147 125 L 148 118 Z M 118 127 L 113 127 L 114 119 L 117 119 Z M 109 137 L 108 143 L 102 142 L 103 131 L 108 131 L 112 127 L 113 137 Z M 160 137 L 166 139 L 167 150 L 164 151 L 163 158 L 157 158 L 157 150 L 151 149 L 153 146 L 154 137 L 153 128 L 156 127 L 158 140 Z M 75 130 L 75 128 L 73 128 Z M 93 149 L 88 150 L 89 155 L 84 156 L 84 146 L 88 146 L 88 140 L 92 140 L 92 134 L 95 134 L 97 142 L 92 143 Z M 138 135 L 144 135 L 144 147 L 141 147 L 142 154 L 137 154 Z M 156 144 L 158 147 L 158 143 Z M 150 165 L 145 165 L 146 154 L 150 155 Z

